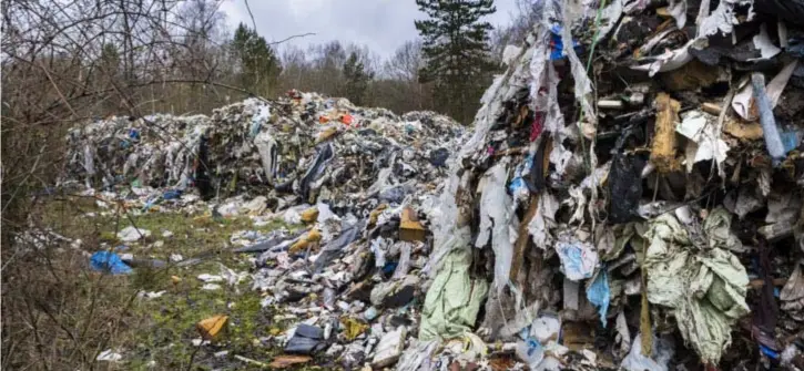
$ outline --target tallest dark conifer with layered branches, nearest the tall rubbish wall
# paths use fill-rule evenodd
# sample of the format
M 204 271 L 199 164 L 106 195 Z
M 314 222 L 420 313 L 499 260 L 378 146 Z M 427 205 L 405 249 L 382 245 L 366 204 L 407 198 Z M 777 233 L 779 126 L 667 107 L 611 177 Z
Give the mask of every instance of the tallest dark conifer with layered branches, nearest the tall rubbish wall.
M 435 82 L 441 111 L 469 123 L 491 76 L 492 27 L 480 19 L 497 11 L 493 0 L 416 0 L 416 4 L 429 18 L 415 22 L 424 39 L 421 82 Z

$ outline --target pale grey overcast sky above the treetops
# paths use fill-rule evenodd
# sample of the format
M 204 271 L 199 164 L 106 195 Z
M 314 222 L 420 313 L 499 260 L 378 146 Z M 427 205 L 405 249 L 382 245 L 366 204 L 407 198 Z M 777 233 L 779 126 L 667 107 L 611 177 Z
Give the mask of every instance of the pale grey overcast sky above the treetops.
M 423 19 L 415 0 L 251 0 L 259 35 L 278 41 L 294 34 L 315 35 L 288 43 L 306 47 L 330 40 L 366 44 L 380 56 L 390 55 L 405 41 L 417 37 L 414 20 Z M 496 0 L 497 12 L 488 17 L 493 25 L 507 24 L 516 10 L 515 0 Z M 252 25 L 244 0 L 224 0 L 231 29 Z

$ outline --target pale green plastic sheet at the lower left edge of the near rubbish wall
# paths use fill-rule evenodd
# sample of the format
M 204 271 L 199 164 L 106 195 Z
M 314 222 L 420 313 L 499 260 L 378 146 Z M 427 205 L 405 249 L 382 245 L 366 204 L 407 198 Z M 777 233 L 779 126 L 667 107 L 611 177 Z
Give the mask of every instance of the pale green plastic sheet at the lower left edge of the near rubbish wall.
M 471 331 L 489 287 L 484 279 L 469 276 L 470 265 L 467 247 L 455 248 L 444 257 L 425 297 L 419 340 L 451 339 Z

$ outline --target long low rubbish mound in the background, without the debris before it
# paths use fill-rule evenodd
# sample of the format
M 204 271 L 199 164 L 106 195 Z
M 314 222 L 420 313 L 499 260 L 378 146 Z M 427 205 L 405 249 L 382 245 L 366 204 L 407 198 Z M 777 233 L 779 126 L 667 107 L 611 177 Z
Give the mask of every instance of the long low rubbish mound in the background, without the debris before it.
M 442 175 L 462 133 L 434 112 L 397 116 L 291 91 L 277 101 L 231 104 L 212 116 L 114 116 L 82 124 L 68 135 L 67 174 L 90 188 L 194 186 L 205 200 L 268 196 L 269 189 L 281 204 L 275 209 L 297 204 L 294 197 L 337 199 L 347 207 L 369 185 L 399 203 L 414 184 Z

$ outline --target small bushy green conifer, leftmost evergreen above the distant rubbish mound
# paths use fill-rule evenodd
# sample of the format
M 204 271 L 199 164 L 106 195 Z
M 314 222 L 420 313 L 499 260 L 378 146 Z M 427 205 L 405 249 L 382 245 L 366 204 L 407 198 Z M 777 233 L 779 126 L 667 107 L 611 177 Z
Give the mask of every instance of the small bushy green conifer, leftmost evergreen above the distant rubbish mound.
M 268 96 L 282 72 L 274 50 L 255 30 L 240 23 L 234 31 L 232 47 L 240 60 L 241 85 L 254 93 Z

